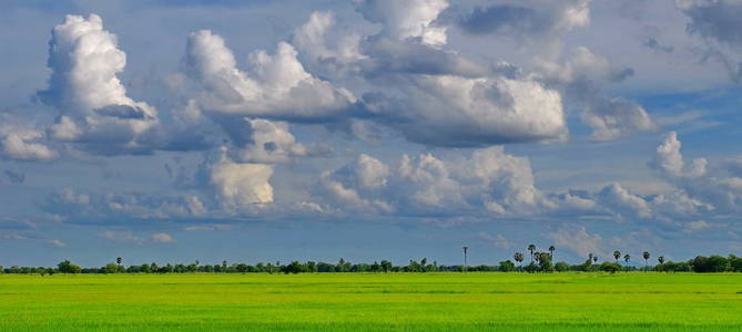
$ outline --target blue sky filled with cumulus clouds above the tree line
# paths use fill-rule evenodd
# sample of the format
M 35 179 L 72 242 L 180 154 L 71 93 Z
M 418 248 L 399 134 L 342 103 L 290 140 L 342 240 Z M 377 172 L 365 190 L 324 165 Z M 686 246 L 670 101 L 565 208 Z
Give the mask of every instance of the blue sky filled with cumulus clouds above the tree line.
M 740 0 L 0 8 L 1 266 L 742 253 Z

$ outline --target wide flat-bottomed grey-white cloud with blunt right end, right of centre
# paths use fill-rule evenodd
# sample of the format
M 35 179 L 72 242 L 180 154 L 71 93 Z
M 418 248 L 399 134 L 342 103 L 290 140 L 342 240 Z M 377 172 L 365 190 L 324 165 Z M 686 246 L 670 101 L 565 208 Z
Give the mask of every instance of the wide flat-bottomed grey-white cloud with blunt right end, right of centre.
M 367 95 L 370 112 L 409 141 L 440 146 L 487 146 L 561 139 L 560 94 L 528 80 L 423 75 L 406 98 Z

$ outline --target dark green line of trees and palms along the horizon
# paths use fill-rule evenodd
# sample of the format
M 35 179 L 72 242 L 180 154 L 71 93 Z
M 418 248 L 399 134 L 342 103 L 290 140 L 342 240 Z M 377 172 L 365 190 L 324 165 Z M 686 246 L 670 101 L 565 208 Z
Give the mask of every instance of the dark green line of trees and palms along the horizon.
M 464 255 L 468 247 L 463 247 Z M 340 258 L 337 263 L 323 261 L 292 261 L 282 264 L 281 261 L 258 262 L 254 266 L 246 263 L 232 263 L 226 260 L 221 264 L 201 264 L 197 260 L 192 263 L 143 263 L 124 266 L 123 259 L 118 257 L 100 268 L 83 268 L 79 264 L 64 260 L 57 267 L 10 267 L 0 266 L 1 273 L 17 274 L 54 274 L 54 273 L 325 273 L 325 272 L 621 272 L 621 271 L 658 271 L 658 272 L 742 272 L 742 257 L 729 255 L 728 257 L 712 255 L 710 257 L 697 256 L 687 261 L 665 261 L 663 256 L 657 258 L 655 264 L 650 264 L 650 252 L 642 252 L 643 267 L 631 266 L 631 255 L 613 251 L 612 260 L 599 262 L 598 256 L 588 253 L 582 263 L 569 264 L 565 261 L 553 262 L 556 248 L 550 246 L 547 251 L 539 251 L 535 245 L 529 245 L 527 251 L 530 261 L 524 266 L 526 255 L 515 252 L 514 260 L 504 260 L 498 264 L 438 264 L 423 258 L 419 261 L 410 259 L 407 264 L 395 266 L 389 260 L 374 261 L 373 263 L 352 263 Z M 466 261 L 466 258 L 465 258 Z

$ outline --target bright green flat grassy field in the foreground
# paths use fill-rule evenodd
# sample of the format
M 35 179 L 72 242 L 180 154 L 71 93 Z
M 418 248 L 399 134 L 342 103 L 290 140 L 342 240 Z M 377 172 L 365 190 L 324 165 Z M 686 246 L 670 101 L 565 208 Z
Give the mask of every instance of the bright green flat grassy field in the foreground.
M 0 331 L 742 331 L 742 274 L 0 276 Z

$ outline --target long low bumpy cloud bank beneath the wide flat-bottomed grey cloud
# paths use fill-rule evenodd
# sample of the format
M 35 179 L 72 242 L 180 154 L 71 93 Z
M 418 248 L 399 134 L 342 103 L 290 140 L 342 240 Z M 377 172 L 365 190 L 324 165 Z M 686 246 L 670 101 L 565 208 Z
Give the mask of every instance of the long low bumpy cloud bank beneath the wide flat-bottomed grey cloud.
M 404 155 L 394 168 L 360 155 L 325 173 L 322 183 L 332 198 L 384 212 L 524 216 L 556 207 L 535 187 L 528 159 L 508 155 L 501 147 L 449 160 L 431 154 Z

